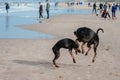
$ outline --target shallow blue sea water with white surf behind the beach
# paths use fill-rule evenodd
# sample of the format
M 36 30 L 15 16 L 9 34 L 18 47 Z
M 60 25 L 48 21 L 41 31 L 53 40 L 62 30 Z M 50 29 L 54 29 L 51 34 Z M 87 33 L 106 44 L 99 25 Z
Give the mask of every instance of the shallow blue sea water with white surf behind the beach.
M 13 0 L 9 0 L 13 1 Z M 22 0 L 21 0 L 22 1 Z M 29 0 L 32 1 L 32 0 Z M 37 0 L 34 0 L 37 1 Z M 55 7 L 54 3 L 51 2 L 50 16 L 60 15 L 60 14 L 90 14 L 91 11 L 87 10 L 74 10 L 74 9 L 64 9 Z M 0 4 L 0 38 L 23 38 L 23 39 L 46 39 L 54 38 L 54 35 L 34 32 L 26 29 L 17 27 L 24 24 L 36 24 L 41 22 L 38 19 L 38 8 L 39 4 L 37 2 L 27 2 L 27 3 L 10 3 L 9 13 L 6 13 L 5 5 Z M 45 3 L 43 3 L 43 16 L 46 18 Z M 44 20 L 43 20 L 44 21 Z

